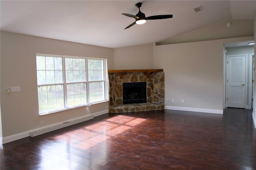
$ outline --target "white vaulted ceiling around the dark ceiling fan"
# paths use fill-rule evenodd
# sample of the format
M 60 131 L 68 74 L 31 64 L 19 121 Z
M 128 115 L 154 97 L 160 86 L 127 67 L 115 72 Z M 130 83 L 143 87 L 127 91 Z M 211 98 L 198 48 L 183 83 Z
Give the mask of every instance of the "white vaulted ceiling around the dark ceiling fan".
M 137 14 L 134 4 L 147 16 L 172 14 L 173 18 L 148 20 L 126 26 Z M 202 11 L 194 8 L 202 6 Z M 254 19 L 256 0 L 92 0 L 0 1 L 2 31 L 52 38 L 102 47 L 126 47 L 160 42 L 230 19 Z

